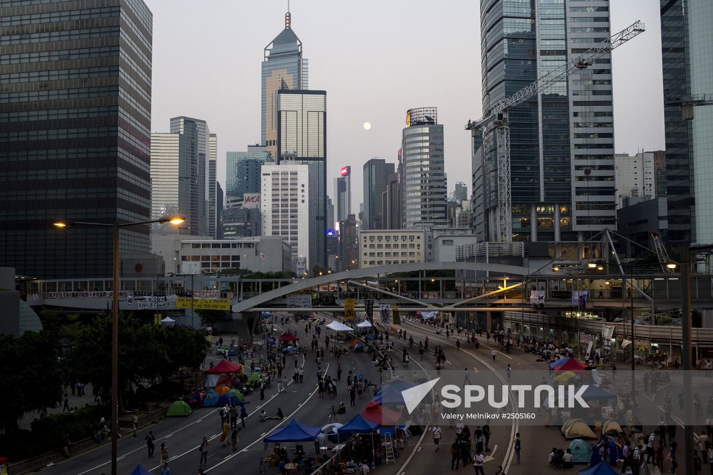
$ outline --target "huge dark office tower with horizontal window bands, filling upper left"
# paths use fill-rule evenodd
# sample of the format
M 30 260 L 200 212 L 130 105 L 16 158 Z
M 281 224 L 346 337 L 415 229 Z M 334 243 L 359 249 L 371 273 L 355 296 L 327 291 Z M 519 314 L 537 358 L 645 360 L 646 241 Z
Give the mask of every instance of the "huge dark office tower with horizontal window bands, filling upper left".
M 141 0 L 0 4 L 0 266 L 109 277 L 150 215 L 153 18 Z M 148 226 L 121 252 L 149 252 Z

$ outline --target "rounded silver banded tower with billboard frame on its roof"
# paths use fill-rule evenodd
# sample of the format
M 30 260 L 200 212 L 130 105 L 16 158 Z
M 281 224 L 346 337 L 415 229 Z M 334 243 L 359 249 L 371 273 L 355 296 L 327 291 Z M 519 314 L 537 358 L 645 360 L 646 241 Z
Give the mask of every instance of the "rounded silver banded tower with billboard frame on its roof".
M 446 220 L 443 126 L 438 123 L 437 109 L 409 109 L 401 137 L 403 228 L 413 228 L 421 221 Z

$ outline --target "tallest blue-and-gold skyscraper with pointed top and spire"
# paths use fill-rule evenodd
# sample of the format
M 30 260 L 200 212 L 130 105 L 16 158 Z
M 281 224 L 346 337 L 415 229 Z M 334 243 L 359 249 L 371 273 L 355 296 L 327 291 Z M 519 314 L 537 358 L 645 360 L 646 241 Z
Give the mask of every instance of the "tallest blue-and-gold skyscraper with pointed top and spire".
M 262 61 L 261 143 L 277 158 L 277 91 L 307 89 L 307 59 L 302 58 L 302 41 L 292 31 L 292 19 L 284 14 L 284 30 L 265 46 Z

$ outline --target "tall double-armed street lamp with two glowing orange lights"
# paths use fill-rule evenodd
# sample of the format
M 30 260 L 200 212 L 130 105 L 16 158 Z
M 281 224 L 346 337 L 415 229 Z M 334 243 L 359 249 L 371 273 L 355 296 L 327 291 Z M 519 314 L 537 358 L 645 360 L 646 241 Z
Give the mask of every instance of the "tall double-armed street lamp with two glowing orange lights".
M 118 385 L 119 385 L 119 228 L 128 226 L 171 223 L 178 225 L 185 221 L 185 217 L 180 215 L 167 216 L 158 220 L 135 221 L 133 223 L 87 223 L 84 221 L 58 220 L 54 223 L 57 228 L 69 228 L 71 226 L 101 226 L 103 228 L 113 228 L 114 249 L 113 249 L 113 284 L 112 284 L 112 310 L 111 310 L 111 474 L 116 475 L 116 440 L 118 439 L 119 415 L 118 415 Z

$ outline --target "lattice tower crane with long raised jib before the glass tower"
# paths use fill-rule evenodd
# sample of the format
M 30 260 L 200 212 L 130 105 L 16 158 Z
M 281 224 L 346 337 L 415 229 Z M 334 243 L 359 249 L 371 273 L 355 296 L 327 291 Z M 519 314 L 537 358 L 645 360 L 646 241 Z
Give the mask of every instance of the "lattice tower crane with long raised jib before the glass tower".
M 513 240 L 513 202 L 510 181 L 510 123 L 508 121 L 508 111 L 527 101 L 530 97 L 546 91 L 550 86 L 558 81 L 568 78 L 570 74 L 582 71 L 592 66 L 595 59 L 604 56 L 612 49 L 618 48 L 630 39 L 645 31 L 645 25 L 641 21 L 634 24 L 610 38 L 601 41 L 597 46 L 585 51 L 585 53 L 570 59 L 559 68 L 550 71 L 537 81 L 531 83 L 512 96 L 498 101 L 492 106 L 478 121 L 468 121 L 466 131 L 477 129 L 497 128 L 498 144 L 498 240 L 510 242 Z

